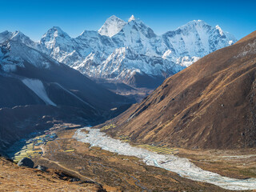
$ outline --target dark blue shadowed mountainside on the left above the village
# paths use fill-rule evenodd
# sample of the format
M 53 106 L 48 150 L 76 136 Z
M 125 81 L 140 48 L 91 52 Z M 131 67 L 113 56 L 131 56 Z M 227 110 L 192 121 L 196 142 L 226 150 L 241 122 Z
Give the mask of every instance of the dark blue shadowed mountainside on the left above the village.
M 0 44 L 0 150 L 54 121 L 94 124 L 129 106 L 129 99 L 26 46 L 28 38 L 15 39 L 22 34 L 5 34 L 11 40 Z

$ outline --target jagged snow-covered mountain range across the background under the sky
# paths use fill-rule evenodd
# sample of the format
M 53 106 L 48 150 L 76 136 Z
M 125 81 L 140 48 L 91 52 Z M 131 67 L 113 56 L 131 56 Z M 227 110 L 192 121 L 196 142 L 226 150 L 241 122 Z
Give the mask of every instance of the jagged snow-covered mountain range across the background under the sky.
M 0 41 L 14 36 L 3 32 Z M 82 74 L 119 82 L 127 82 L 135 74 L 166 78 L 206 54 L 236 42 L 233 35 L 219 26 L 213 27 L 201 20 L 157 35 L 133 15 L 128 22 L 111 16 L 100 30 L 85 30 L 77 38 L 71 38 L 59 27 L 53 27 L 40 42 L 22 39 L 27 46 Z

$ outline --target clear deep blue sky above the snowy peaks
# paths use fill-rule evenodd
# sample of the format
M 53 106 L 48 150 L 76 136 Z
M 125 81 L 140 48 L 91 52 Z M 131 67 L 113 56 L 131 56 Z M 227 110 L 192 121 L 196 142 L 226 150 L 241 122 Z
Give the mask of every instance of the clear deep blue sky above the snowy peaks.
M 194 19 L 219 25 L 236 38 L 256 30 L 256 1 L 54 1 L 0 0 L 0 31 L 21 30 L 39 40 L 52 26 L 77 37 L 83 30 L 98 30 L 111 15 L 123 20 L 134 14 L 156 34 L 174 30 Z

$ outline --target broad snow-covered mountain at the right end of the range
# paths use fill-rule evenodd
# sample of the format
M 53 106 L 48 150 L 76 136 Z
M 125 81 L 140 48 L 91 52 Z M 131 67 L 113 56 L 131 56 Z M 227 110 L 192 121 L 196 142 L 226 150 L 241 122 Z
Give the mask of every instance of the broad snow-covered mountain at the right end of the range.
M 233 35 L 212 27 L 201 20 L 188 22 L 177 30 L 162 35 L 173 57 L 196 56 L 202 58 L 214 50 L 230 46 L 236 42 Z

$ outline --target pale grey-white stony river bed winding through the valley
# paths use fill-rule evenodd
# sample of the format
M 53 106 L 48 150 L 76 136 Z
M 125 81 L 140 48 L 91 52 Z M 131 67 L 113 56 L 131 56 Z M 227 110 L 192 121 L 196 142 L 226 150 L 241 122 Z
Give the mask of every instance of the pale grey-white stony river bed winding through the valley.
M 81 131 L 88 130 L 89 133 Z M 190 178 L 197 182 L 208 182 L 227 190 L 256 190 L 256 178 L 237 179 L 223 177 L 213 172 L 202 170 L 195 166 L 187 158 L 178 158 L 172 154 L 157 154 L 136 146 L 130 146 L 127 142 L 110 138 L 99 129 L 84 127 L 78 129 L 74 137 L 79 142 L 90 143 L 90 146 L 101 147 L 117 154 L 135 156 L 141 158 L 149 166 L 158 166 L 165 170 L 173 171 L 183 178 Z

